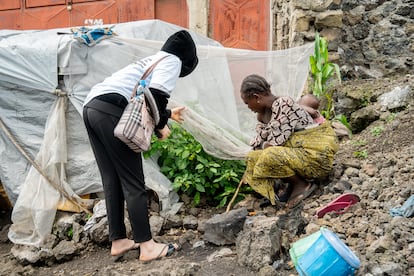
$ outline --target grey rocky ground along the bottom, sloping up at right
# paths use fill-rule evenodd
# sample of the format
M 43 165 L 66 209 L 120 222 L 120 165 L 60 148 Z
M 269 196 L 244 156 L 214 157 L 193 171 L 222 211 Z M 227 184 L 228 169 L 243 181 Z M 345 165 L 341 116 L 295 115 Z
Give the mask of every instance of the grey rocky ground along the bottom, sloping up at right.
M 395 87 L 411 87 L 413 76 L 382 80 L 348 81 L 341 91 L 370 91 L 375 104 L 378 95 Z M 375 97 L 372 97 L 375 95 Z M 414 100 L 405 108 L 379 111 L 375 120 L 362 132 L 341 139 L 332 176 L 295 212 L 306 221 L 308 236 L 321 226 L 335 232 L 361 262 L 356 275 L 414 275 L 413 217 L 392 216 L 390 209 L 400 207 L 414 194 Z M 344 214 L 327 214 L 316 218 L 315 211 L 344 192 L 353 192 L 360 202 Z M 250 216 L 289 215 L 283 207 L 260 207 L 261 199 L 246 199 Z M 241 204 L 234 206 L 238 208 Z M 208 219 L 225 210 L 184 207 L 179 214 Z M 182 250 L 170 258 L 142 264 L 138 252 L 130 252 L 123 261 L 114 263 L 108 245 L 88 243 L 68 261 L 22 264 L 17 261 L 7 241 L 9 213 L 0 217 L 0 275 L 298 275 L 289 259 L 277 260 L 259 271 L 240 265 L 235 245 L 216 246 L 203 240 L 200 227 L 170 228 L 157 237 L 160 241 L 177 241 Z M 288 249 L 288 248 L 287 248 Z M 285 256 L 288 256 L 285 252 Z M 272 267 L 273 265 L 273 267 Z M 276 268 L 276 269 L 275 269 Z

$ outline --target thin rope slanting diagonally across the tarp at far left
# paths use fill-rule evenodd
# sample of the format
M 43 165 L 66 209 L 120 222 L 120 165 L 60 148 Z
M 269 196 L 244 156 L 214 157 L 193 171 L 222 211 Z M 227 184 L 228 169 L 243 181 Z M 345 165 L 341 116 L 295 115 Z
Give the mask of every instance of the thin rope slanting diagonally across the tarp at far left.
M 35 160 L 33 160 L 29 154 L 19 145 L 19 143 L 16 141 L 15 137 L 10 133 L 6 125 L 3 123 L 3 120 L 0 118 L 0 127 L 4 131 L 4 133 L 7 135 L 7 137 L 10 139 L 10 141 L 13 143 L 13 145 L 18 149 L 18 151 L 32 164 L 32 166 L 39 172 L 40 175 L 42 175 L 49 184 L 58 190 L 61 195 L 63 195 L 67 200 L 69 200 L 71 203 L 79 207 L 81 210 L 85 211 L 88 214 L 92 214 L 88 209 L 86 209 L 84 206 L 79 204 L 76 200 L 72 198 L 65 190 L 62 189 L 60 185 L 58 185 L 56 182 L 51 180 L 47 174 L 43 171 L 43 169 L 39 166 L 39 164 L 36 163 Z

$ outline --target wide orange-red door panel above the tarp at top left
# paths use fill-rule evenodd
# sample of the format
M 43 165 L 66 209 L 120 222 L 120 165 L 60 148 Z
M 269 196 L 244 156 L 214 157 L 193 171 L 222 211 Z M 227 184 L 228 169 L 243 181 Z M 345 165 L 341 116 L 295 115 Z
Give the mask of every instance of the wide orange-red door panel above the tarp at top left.
M 160 19 L 188 28 L 186 0 L 0 0 L 0 29 L 52 29 Z

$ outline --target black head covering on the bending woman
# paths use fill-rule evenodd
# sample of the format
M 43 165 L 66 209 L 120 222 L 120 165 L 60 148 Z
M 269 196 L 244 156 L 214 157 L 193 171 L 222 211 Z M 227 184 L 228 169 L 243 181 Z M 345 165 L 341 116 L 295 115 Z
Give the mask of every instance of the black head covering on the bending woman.
M 193 72 L 198 64 L 196 46 L 190 33 L 185 30 L 171 35 L 162 46 L 161 51 L 173 54 L 181 60 L 180 78 Z

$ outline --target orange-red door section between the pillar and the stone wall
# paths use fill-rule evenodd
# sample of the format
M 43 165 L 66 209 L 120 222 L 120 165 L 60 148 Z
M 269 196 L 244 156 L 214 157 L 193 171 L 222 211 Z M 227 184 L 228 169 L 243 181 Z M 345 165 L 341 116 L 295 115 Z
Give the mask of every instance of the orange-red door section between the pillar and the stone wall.
M 210 0 L 210 37 L 226 47 L 268 50 L 268 0 Z

